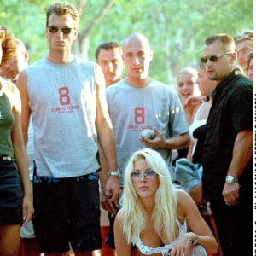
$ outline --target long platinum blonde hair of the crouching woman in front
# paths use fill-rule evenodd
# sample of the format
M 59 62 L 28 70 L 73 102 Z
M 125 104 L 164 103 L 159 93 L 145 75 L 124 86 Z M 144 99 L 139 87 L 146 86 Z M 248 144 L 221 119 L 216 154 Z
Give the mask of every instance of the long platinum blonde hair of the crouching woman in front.
M 153 212 L 154 230 L 160 236 L 163 232 L 175 239 L 177 197 L 176 189 L 172 184 L 171 175 L 162 156 L 150 148 L 144 148 L 132 154 L 125 168 L 124 190 L 120 199 L 121 210 L 124 216 L 123 232 L 129 244 L 134 244 L 135 239 L 147 224 L 147 214 L 131 180 L 134 163 L 146 160 L 148 166 L 158 173 L 159 187 L 155 193 Z

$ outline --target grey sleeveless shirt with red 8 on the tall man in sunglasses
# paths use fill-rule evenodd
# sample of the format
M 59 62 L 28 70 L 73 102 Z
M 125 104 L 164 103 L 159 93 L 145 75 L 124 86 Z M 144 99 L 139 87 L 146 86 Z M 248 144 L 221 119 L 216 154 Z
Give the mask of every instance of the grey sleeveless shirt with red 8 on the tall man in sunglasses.
M 95 64 L 43 58 L 26 68 L 38 176 L 78 177 L 95 172 Z

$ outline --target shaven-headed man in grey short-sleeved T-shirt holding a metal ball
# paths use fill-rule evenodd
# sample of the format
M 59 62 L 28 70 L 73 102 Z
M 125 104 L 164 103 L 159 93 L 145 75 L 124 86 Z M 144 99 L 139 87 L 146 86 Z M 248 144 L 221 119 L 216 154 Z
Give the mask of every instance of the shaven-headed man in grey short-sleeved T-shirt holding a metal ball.
M 172 149 L 189 146 L 189 126 L 177 92 L 172 86 L 149 77 L 153 51 L 148 38 L 135 32 L 123 44 L 126 77 L 106 90 L 108 110 L 113 123 L 119 166 L 119 182 L 131 154 L 140 148 L 154 148 L 170 164 Z M 144 129 L 156 137 L 142 137 Z M 114 211 L 113 211 L 114 213 Z

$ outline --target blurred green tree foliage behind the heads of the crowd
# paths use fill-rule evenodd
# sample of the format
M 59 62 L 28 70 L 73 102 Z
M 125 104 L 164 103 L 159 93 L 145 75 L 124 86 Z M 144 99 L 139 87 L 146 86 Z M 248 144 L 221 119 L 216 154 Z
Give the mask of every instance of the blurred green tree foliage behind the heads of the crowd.
M 84 1 L 80 32 L 102 9 L 104 0 Z M 71 0 L 77 6 L 79 0 Z M 26 44 L 31 62 L 47 54 L 44 9 L 50 0 L 9 0 L 0 6 L 0 23 Z M 253 28 L 252 0 L 115 0 L 107 15 L 90 33 L 89 59 L 98 44 L 122 43 L 131 32 L 143 32 L 154 50 L 151 76 L 168 84 L 183 67 L 196 67 L 204 38 L 226 32 L 234 37 Z

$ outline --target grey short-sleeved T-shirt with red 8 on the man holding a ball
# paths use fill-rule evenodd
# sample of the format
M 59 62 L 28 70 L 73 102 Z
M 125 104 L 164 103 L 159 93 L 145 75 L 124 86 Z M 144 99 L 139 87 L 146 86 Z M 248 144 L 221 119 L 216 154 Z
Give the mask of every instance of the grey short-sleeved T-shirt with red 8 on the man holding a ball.
M 182 104 L 171 85 L 151 79 L 143 88 L 136 88 L 122 79 L 106 90 L 108 111 L 113 123 L 117 160 L 123 185 L 123 173 L 131 154 L 145 148 L 139 141 L 144 129 L 156 127 L 163 137 L 174 137 L 189 131 Z M 170 167 L 172 150 L 160 149 L 158 152 Z

